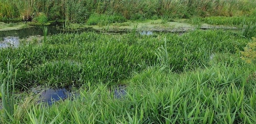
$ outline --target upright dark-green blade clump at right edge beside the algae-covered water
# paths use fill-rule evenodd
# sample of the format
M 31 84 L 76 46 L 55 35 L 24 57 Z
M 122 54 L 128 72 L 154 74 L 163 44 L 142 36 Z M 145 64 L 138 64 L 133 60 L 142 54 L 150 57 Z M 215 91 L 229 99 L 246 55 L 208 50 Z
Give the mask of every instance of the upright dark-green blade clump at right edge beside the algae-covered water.
M 251 38 L 256 36 L 256 23 L 243 24 L 242 36 L 245 38 Z

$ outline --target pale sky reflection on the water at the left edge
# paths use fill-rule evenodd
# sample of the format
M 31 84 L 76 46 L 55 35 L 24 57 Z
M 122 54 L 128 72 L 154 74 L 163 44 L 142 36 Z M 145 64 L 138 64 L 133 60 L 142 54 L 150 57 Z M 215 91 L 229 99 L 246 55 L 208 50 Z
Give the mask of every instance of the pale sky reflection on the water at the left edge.
M 18 47 L 19 38 L 18 37 L 5 37 L 0 40 L 0 48 L 5 47 Z

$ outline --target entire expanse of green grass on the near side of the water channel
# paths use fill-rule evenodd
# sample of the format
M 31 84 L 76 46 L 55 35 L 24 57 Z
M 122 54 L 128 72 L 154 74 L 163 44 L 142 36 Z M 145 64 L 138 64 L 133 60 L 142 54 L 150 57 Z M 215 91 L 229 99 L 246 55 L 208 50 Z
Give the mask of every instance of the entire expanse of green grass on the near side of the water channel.
M 243 51 L 247 44 L 255 50 L 255 41 L 241 35 L 224 30 L 183 35 L 83 32 L 0 49 L 1 85 L 15 74 L 11 84 L 16 90 L 81 86 L 78 97 L 48 107 L 30 94 L 18 97 L 11 114 L 4 113 L 12 104 L 0 110 L 0 122 L 253 124 L 256 61 L 246 62 Z M 123 98 L 110 92 L 118 84 L 126 85 Z M 14 95 L 2 87 L 2 101 L 6 93 Z

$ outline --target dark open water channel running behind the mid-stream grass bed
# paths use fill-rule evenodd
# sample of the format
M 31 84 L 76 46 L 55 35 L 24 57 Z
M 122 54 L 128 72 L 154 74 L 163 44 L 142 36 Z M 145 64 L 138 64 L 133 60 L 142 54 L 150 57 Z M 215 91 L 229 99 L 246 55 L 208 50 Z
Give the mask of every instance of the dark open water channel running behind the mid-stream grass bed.
M 37 25 L 32 26 L 30 28 L 18 29 L 18 30 L 8 30 L 8 31 L 0 31 L 0 48 L 5 47 L 18 47 L 20 38 L 27 38 L 29 36 L 43 36 L 44 27 L 47 27 L 47 35 L 54 35 L 59 33 L 81 33 L 81 32 L 102 32 L 108 34 L 124 34 L 130 31 L 122 30 L 122 31 L 100 31 L 93 28 L 83 28 L 74 31 L 61 30 L 63 23 L 54 22 L 50 25 L 43 26 Z M 139 32 L 141 35 L 152 35 L 153 32 L 157 31 L 142 31 Z

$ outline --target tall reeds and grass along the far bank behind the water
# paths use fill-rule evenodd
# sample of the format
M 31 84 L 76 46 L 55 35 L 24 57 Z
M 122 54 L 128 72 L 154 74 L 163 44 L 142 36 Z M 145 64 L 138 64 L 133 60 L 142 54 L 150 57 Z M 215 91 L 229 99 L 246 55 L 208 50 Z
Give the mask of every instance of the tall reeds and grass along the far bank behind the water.
M 0 19 L 45 22 L 84 22 L 92 14 L 122 16 L 131 20 L 189 18 L 191 16 L 240 16 L 255 14 L 254 0 L 0 0 Z

